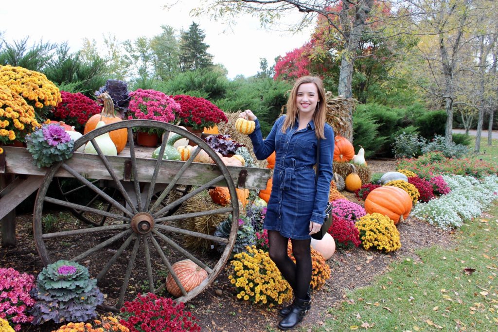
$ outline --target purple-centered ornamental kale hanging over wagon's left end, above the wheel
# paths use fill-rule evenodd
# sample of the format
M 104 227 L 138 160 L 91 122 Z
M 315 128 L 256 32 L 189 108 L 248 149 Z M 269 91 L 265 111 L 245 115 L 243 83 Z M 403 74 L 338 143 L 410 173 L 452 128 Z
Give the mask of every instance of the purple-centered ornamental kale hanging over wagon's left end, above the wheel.
M 44 124 L 26 136 L 26 144 L 37 167 L 48 167 L 73 155 L 74 141 L 59 123 Z

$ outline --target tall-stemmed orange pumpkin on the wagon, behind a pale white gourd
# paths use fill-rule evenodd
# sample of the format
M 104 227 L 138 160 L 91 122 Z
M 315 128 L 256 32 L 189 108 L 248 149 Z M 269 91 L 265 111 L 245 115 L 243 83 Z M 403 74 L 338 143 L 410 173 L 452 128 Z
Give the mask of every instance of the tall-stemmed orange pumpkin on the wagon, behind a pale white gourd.
M 83 131 L 84 134 L 94 130 L 99 121 L 104 121 L 105 124 L 122 121 L 121 117 L 116 116 L 114 112 L 113 100 L 108 93 L 103 93 L 97 98 L 101 99 L 104 102 L 104 108 L 102 109 L 102 112 L 100 114 L 95 114 L 88 119 L 87 123 L 85 124 L 85 130 Z M 123 151 L 124 146 L 128 141 L 128 131 L 126 130 L 126 128 L 113 130 L 109 132 L 109 136 L 114 142 L 114 145 L 116 145 L 116 150 L 118 151 L 118 153 Z

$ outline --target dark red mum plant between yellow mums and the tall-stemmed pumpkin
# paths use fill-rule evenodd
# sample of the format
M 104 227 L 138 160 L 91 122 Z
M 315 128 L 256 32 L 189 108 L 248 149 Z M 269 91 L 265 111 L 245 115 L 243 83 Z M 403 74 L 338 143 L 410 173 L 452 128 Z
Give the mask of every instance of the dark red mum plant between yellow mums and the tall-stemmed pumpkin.
M 64 121 L 68 125 L 74 126 L 77 131 L 83 131 L 88 119 L 102 111 L 96 101 L 81 93 L 72 94 L 61 91 L 61 98 L 62 102 L 52 111 L 52 119 Z

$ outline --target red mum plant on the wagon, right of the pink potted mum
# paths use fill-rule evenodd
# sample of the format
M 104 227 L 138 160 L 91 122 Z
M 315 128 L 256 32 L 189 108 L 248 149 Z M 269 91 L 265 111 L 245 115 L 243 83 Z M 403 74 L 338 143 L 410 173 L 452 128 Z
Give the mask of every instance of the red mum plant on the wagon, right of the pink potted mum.
M 176 119 L 181 121 L 180 125 L 204 129 L 220 122 L 228 122 L 225 113 L 204 98 L 177 95 L 173 99 L 181 106 L 179 111 L 175 111 Z

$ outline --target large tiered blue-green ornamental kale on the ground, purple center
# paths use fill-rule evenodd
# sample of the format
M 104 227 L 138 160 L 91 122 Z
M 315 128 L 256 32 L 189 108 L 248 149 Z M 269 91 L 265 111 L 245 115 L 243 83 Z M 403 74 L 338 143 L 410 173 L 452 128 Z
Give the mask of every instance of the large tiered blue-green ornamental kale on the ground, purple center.
M 43 268 L 31 290 L 36 304 L 31 309 L 33 324 L 50 320 L 85 322 L 95 318 L 95 308 L 104 301 L 97 280 L 78 263 L 59 260 Z M 57 308 L 57 310 L 53 310 Z

